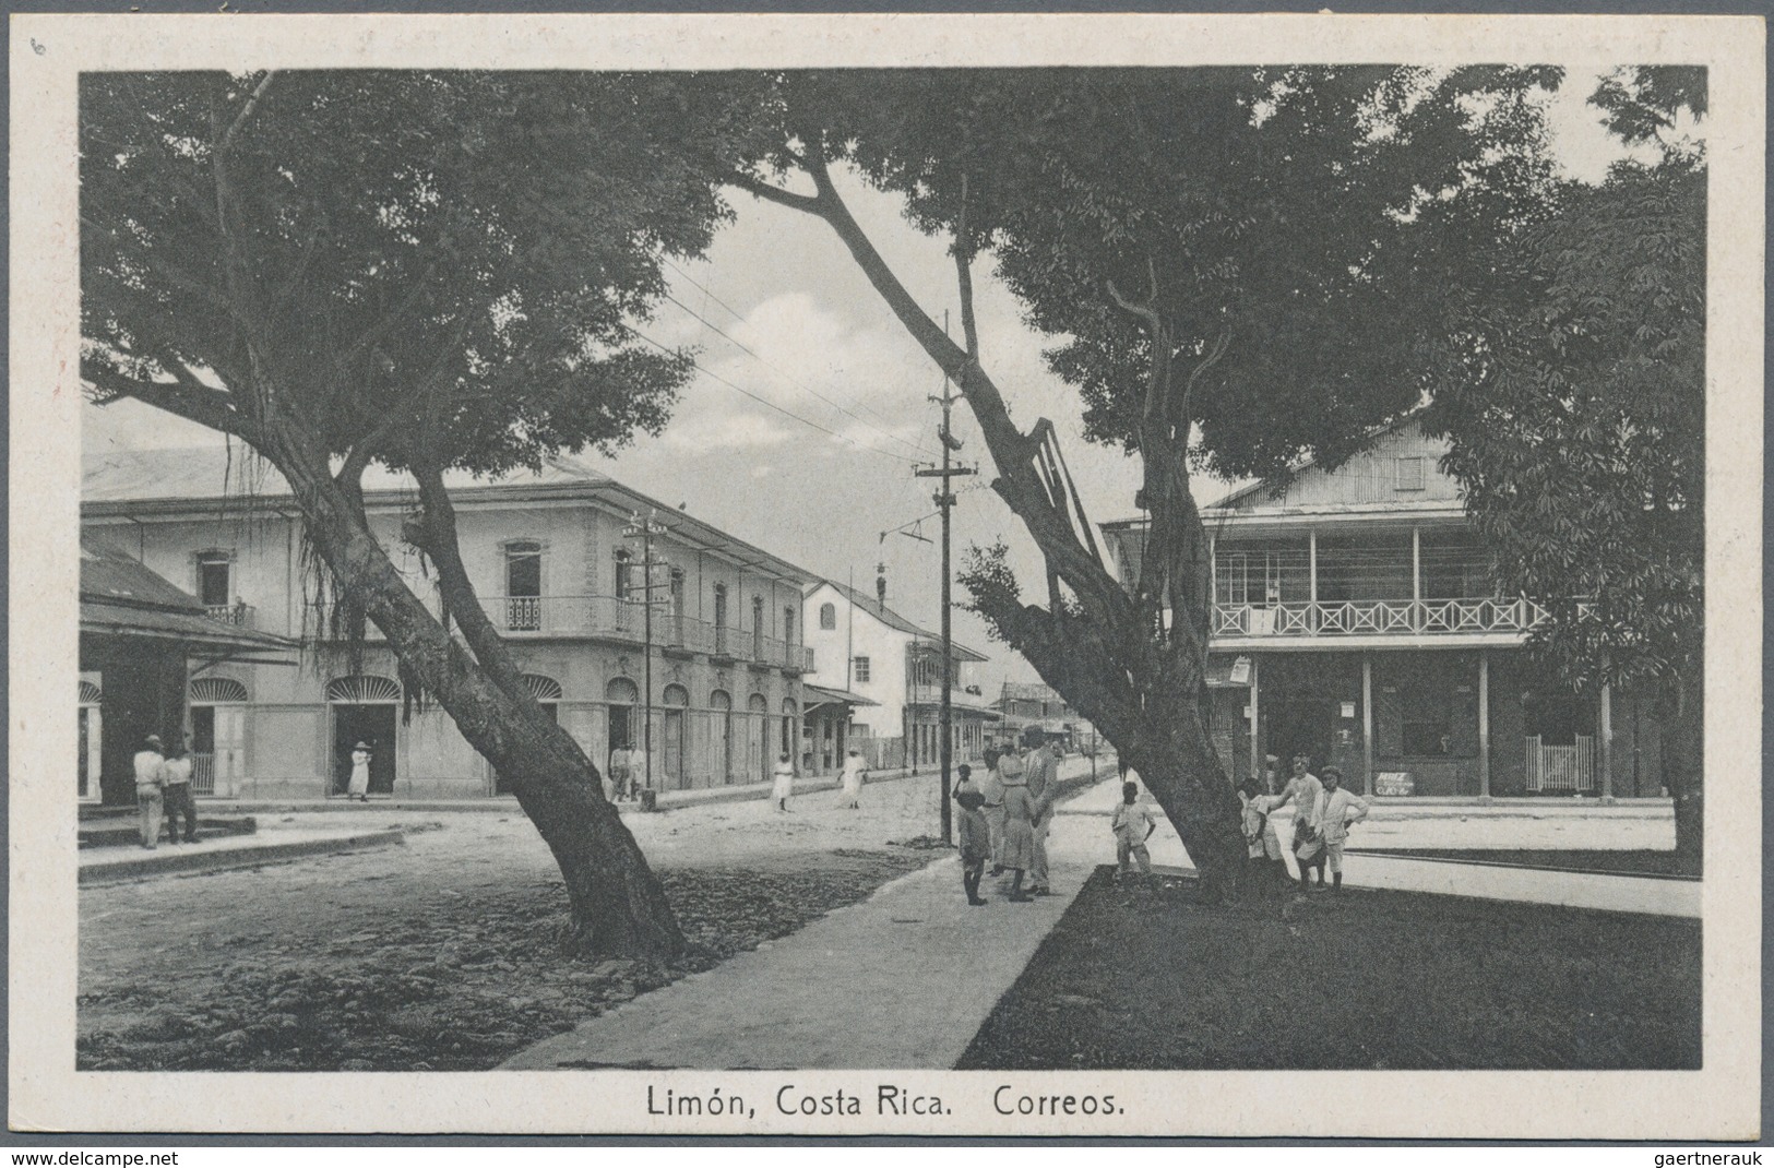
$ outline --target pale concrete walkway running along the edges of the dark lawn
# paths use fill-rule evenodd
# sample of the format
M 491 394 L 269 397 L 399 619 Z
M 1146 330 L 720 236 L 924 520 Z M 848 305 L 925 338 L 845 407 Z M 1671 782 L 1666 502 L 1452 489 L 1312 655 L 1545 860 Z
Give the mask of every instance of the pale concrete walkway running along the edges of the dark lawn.
M 953 1067 L 1077 896 L 1084 879 L 1098 864 L 1112 863 L 1114 841 L 1105 815 L 1118 799 L 1119 781 L 1111 770 L 1102 783 L 1061 804 L 1048 838 L 1056 896 L 1009 904 L 988 891 L 992 904 L 974 909 L 962 895 L 956 859 L 938 859 L 883 886 L 862 904 L 589 1019 L 516 1054 L 504 1067 Z M 1189 866 L 1169 825 L 1160 827 L 1153 843 L 1157 863 Z M 1699 904 L 1699 886 L 1678 880 L 1378 856 L 1352 856 L 1346 872 L 1345 880 L 1352 888 L 1675 916 L 1694 916 Z

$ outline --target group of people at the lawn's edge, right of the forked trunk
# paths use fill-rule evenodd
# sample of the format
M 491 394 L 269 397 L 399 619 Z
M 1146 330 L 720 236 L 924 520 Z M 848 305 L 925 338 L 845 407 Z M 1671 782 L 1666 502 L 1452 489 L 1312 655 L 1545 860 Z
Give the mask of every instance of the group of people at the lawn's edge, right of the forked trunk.
M 1279 760 L 1268 756 L 1270 790 L 1274 790 L 1274 772 Z M 1325 889 L 1325 868 L 1330 870 L 1330 889 L 1343 891 L 1343 845 L 1348 840 L 1350 824 L 1368 818 L 1368 801 L 1343 786 L 1343 770 L 1325 767 L 1322 774 L 1311 772 L 1313 760 L 1306 754 L 1293 756 L 1293 774 L 1279 793 L 1267 793 L 1254 779 L 1245 779 L 1238 788 L 1238 801 L 1244 804 L 1244 838 L 1254 864 L 1267 868 L 1277 884 L 1293 880 L 1288 875 L 1288 863 L 1283 859 L 1281 840 L 1270 817 L 1281 808 L 1293 804 L 1293 840 L 1288 850 L 1299 866 L 1300 889 Z M 1318 873 L 1316 882 L 1311 879 Z

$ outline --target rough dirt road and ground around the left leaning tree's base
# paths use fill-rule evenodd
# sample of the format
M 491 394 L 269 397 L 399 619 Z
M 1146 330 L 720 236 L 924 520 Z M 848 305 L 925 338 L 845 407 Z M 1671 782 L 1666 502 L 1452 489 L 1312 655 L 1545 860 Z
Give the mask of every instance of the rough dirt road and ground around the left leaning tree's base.
M 633 815 L 690 939 L 681 966 L 555 943 L 559 872 L 516 808 L 314 811 L 406 843 L 80 891 L 83 1070 L 470 1070 L 671 978 L 786 935 L 942 852 L 937 779 Z

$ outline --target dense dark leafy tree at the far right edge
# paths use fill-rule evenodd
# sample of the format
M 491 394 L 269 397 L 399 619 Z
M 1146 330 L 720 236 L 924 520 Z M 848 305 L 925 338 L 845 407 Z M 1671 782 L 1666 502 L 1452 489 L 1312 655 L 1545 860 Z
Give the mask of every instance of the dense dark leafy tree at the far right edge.
M 1485 286 L 1444 302 L 1426 424 L 1501 584 L 1547 609 L 1529 648 L 1591 696 L 1655 694 L 1676 850 L 1698 870 L 1707 169 L 1662 135 L 1705 114 L 1705 71 L 1623 69 L 1593 101 L 1659 158 L 1563 185 L 1545 218 L 1483 249 Z

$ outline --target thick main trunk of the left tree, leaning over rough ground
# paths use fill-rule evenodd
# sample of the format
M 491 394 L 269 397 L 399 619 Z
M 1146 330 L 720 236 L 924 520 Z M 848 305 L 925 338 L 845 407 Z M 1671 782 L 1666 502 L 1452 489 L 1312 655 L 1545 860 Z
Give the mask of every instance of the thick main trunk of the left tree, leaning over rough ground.
M 413 596 L 371 534 L 360 506 L 328 474 L 314 470 L 325 462 L 300 449 L 263 453 L 289 479 L 310 541 L 351 600 L 468 744 L 511 783 L 518 806 L 561 866 L 573 912 L 573 948 L 648 960 L 679 955 L 683 934 L 665 891 L 603 797 L 598 769 L 578 744 L 534 699 L 520 699 L 495 683 Z

